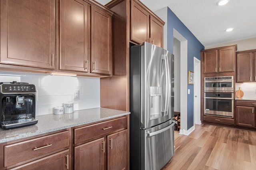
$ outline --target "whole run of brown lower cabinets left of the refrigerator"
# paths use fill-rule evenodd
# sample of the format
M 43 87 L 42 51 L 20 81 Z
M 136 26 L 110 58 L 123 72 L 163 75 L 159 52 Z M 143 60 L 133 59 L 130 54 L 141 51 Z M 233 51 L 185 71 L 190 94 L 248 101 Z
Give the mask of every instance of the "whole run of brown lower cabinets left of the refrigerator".
M 128 125 L 126 115 L 0 143 L 0 170 L 128 170 Z

